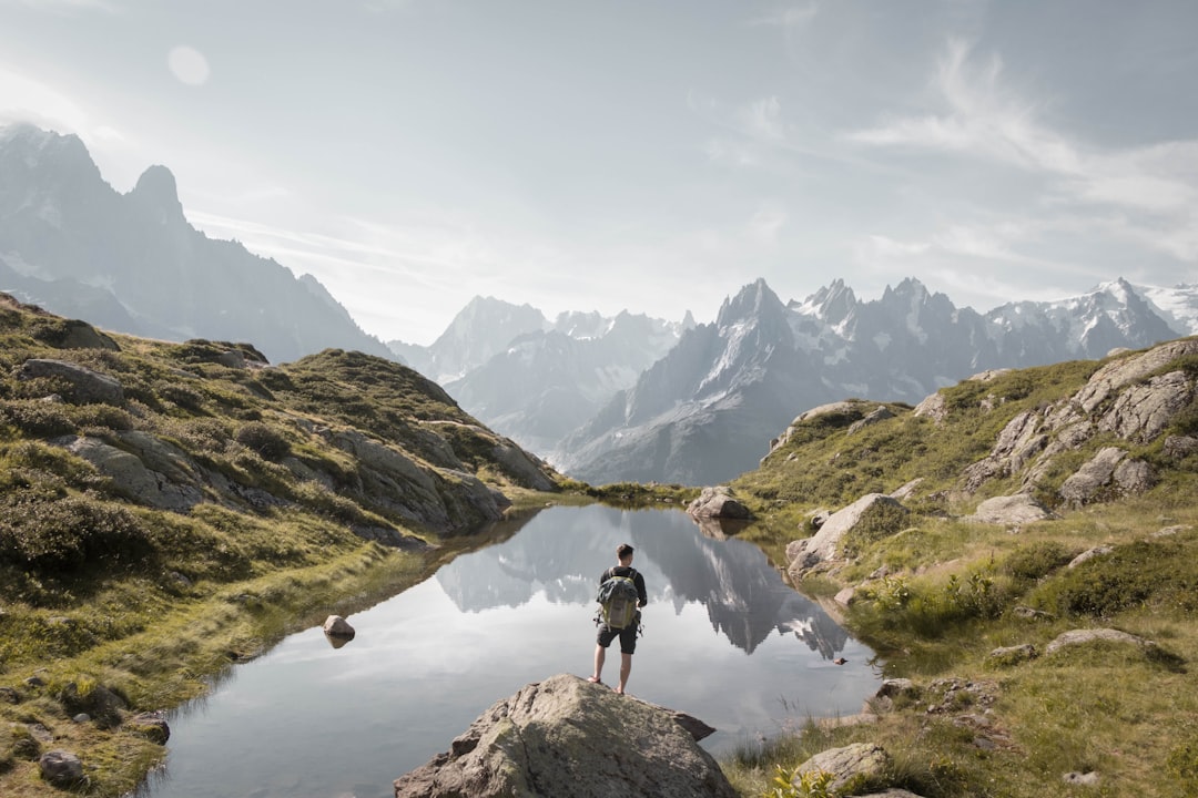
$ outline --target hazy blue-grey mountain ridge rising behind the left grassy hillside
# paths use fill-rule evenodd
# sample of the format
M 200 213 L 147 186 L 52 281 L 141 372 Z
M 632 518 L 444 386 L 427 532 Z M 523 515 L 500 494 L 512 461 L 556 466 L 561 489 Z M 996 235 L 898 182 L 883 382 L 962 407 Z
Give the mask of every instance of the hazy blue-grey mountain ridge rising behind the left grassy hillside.
M 120 194 L 77 136 L 30 124 L 0 129 L 0 290 L 132 335 L 252 342 L 276 363 L 393 359 L 310 275 L 192 227 L 165 166 Z

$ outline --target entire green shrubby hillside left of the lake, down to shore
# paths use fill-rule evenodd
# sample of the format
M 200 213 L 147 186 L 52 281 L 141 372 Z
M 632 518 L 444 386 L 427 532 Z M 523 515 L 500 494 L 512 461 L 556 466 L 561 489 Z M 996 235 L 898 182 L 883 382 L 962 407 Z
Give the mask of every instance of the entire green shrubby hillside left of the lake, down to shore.
M 53 749 L 83 761 L 73 790 L 132 790 L 164 753 L 141 713 L 561 485 L 398 364 L 268 366 L 0 294 L 0 794 L 55 793 Z

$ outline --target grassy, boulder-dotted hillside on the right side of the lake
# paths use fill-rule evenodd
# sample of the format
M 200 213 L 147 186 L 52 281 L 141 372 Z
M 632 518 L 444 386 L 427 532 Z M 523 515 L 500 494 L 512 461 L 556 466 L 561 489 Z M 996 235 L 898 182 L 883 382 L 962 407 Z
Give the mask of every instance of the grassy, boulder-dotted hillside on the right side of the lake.
M 834 561 L 791 574 L 879 651 L 888 677 L 910 684 L 875 701 L 866 723 L 811 723 L 746 748 L 726 766 L 744 794 L 822 796 L 817 780 L 782 787 L 772 779 L 783 773 L 788 782 L 819 750 L 870 742 L 891 762 L 851 794 L 897 786 L 928 798 L 1198 796 L 1198 363 L 1190 343 L 1109 395 L 1096 385 L 1140 353 L 964 380 L 939 392 L 934 413 L 848 402 L 797 420 L 762 467 L 733 483 L 762 519 L 742 536 L 779 564 L 827 511 L 865 494 L 898 492 L 907 511 L 866 519 Z M 1167 385 L 1179 386 L 1167 424 L 1124 434 L 1144 397 Z M 878 407 L 890 418 L 854 426 Z M 1017 431 L 1025 445 L 1000 457 Z M 1150 479 L 1070 498 L 1071 477 L 1105 449 L 1144 464 Z M 985 499 L 1016 493 L 1051 517 L 972 518 Z M 1049 653 L 1075 629 L 1142 642 Z M 1072 786 L 1066 774 L 1095 784 Z

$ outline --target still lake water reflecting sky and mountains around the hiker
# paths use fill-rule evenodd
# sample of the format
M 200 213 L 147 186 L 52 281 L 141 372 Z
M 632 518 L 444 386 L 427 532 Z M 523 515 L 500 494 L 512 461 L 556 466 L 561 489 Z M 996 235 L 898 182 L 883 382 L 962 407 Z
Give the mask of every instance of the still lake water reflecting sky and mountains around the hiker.
M 859 712 L 876 692 L 873 653 L 756 546 L 706 537 L 678 511 L 551 507 L 350 616 L 347 645 L 333 648 L 314 627 L 237 665 L 170 719 L 167 765 L 141 794 L 393 794 L 395 778 L 448 750 L 496 701 L 555 674 L 591 674 L 595 586 L 625 541 L 649 593 L 628 692 L 715 726 L 702 743 L 715 756 L 809 717 Z

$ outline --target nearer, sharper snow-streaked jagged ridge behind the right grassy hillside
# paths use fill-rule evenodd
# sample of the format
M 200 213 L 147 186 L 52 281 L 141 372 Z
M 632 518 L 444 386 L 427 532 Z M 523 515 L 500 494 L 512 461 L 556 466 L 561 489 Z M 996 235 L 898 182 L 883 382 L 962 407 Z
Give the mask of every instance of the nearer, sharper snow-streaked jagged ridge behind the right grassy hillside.
M 1198 306 L 1198 287 L 1158 296 L 1172 307 Z M 594 483 L 721 482 L 754 468 L 776 430 L 818 404 L 851 396 L 919 402 L 979 371 L 1100 358 L 1191 331 L 1170 327 L 1123 279 L 985 315 L 914 279 L 872 301 L 836 280 L 788 305 L 758 280 L 547 459 Z

